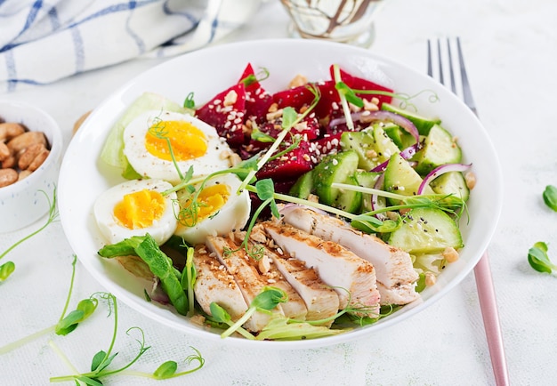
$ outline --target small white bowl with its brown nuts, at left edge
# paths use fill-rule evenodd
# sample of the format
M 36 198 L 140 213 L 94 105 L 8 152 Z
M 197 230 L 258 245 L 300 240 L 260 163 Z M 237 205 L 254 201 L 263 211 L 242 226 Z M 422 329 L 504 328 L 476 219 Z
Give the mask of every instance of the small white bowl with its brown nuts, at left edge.
M 63 144 L 56 121 L 28 103 L 0 101 L 0 119 L 0 232 L 11 232 L 48 212 Z

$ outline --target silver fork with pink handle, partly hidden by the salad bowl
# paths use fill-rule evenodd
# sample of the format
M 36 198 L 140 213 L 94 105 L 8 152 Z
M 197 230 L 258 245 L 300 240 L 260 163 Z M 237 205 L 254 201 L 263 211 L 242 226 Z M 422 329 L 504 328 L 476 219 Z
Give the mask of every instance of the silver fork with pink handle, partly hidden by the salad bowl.
M 456 50 L 458 66 L 453 65 L 453 56 L 451 52 L 451 39 L 445 41 L 445 50 L 441 47 L 441 39 L 437 39 L 437 68 L 434 68 L 434 58 L 432 50 L 432 41 L 427 41 L 427 73 L 429 76 L 437 76 L 441 84 L 450 86 L 450 90 L 458 95 L 464 103 L 477 116 L 476 105 L 472 99 L 472 92 L 468 82 L 468 75 L 464 67 L 464 56 L 460 45 L 460 38 L 456 37 Z M 447 52 L 446 56 L 443 52 Z M 445 73 L 448 67 L 449 82 L 446 81 Z M 435 71 L 435 69 L 437 71 Z M 458 74 L 460 74 L 460 83 L 457 83 Z M 499 324 L 499 315 L 496 304 L 496 294 L 491 277 L 491 269 L 489 267 L 488 251 L 484 252 L 480 261 L 474 267 L 474 277 L 476 278 L 476 287 L 478 289 L 478 297 L 480 299 L 481 316 L 483 325 L 488 339 L 488 349 L 491 358 L 491 366 L 497 386 L 506 386 L 509 384 L 509 375 L 505 359 L 505 347 L 503 345 L 503 336 L 501 334 L 501 326 Z

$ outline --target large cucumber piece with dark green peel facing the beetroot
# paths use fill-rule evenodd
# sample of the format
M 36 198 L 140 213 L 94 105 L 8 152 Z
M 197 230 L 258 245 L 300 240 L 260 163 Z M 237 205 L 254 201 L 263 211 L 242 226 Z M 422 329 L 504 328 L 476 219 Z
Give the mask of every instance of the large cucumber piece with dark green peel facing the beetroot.
M 334 205 L 340 190 L 332 188 L 333 182 L 343 183 L 358 169 L 358 154 L 354 150 L 327 156 L 313 169 L 313 186 L 319 201 Z

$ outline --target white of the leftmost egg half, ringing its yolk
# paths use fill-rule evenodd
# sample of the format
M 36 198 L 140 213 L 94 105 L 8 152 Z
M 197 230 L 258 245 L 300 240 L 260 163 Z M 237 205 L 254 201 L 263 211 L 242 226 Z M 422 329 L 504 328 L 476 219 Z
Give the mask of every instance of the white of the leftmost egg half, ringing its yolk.
M 165 197 L 165 210 L 157 221 L 146 228 L 128 229 L 114 215 L 114 207 L 122 201 L 126 194 L 141 191 L 143 189 L 154 190 L 159 193 L 173 186 L 169 182 L 162 180 L 131 180 L 122 182 L 97 197 L 93 206 L 93 213 L 101 235 L 109 244 L 116 244 L 125 238 L 132 236 L 145 236 L 149 233 L 158 245 L 164 244 L 168 238 L 174 234 L 178 221 L 176 214 L 179 205 L 176 201 L 176 193 L 171 193 Z

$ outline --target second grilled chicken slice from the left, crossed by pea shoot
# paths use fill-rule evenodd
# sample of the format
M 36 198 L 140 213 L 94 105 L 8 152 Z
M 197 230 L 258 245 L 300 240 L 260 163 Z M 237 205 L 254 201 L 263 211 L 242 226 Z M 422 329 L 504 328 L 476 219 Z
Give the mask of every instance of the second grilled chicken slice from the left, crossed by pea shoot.
M 244 248 L 238 247 L 230 238 L 209 236 L 206 238 L 206 246 L 232 274 L 247 304 L 251 304 L 254 297 L 260 294 L 266 285 L 269 285 L 259 275 L 257 269 L 248 262 L 250 257 Z M 284 316 L 280 304 L 271 312 Z M 270 318 L 270 314 L 255 312 L 244 327 L 252 332 L 259 332 L 264 326 L 267 326 Z

